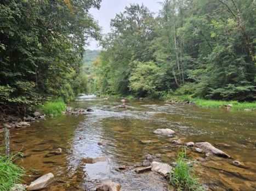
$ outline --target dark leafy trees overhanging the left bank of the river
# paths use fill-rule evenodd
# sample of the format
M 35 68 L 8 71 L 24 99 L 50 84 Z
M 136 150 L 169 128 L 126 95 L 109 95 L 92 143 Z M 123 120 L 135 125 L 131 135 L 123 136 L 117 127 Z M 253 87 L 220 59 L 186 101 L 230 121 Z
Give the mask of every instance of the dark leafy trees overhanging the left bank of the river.
M 26 111 L 48 97 L 66 102 L 86 92 L 82 71 L 88 39 L 100 27 L 88 13 L 101 0 L 2 0 L 0 112 Z

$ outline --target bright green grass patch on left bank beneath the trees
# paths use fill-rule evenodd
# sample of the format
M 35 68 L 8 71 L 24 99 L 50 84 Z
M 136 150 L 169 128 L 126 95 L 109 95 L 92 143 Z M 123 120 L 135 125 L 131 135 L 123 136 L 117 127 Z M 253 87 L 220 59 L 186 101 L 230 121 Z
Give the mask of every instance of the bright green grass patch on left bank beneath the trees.
M 55 100 L 55 102 L 45 102 L 39 107 L 39 110 L 41 110 L 45 115 L 59 115 L 62 111 L 66 110 L 66 105 L 64 100 L 59 98 Z

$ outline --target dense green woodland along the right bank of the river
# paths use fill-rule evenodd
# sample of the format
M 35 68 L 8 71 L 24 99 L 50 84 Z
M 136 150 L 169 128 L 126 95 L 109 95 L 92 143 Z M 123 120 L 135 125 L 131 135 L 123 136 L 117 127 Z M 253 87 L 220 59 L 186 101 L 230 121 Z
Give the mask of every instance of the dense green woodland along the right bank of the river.
M 94 62 L 94 91 L 159 98 L 255 100 L 253 0 L 131 4 L 111 20 Z

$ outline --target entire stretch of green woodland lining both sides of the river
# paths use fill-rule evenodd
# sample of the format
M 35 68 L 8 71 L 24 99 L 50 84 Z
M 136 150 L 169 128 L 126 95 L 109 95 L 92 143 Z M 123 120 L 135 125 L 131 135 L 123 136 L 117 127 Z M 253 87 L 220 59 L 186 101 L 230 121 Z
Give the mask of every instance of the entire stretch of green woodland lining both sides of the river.
M 100 2 L 1 1 L 1 114 L 88 92 L 256 99 L 255 1 L 166 0 L 159 14 L 130 4 L 105 35 L 88 13 Z M 99 56 L 84 52 L 89 38 Z

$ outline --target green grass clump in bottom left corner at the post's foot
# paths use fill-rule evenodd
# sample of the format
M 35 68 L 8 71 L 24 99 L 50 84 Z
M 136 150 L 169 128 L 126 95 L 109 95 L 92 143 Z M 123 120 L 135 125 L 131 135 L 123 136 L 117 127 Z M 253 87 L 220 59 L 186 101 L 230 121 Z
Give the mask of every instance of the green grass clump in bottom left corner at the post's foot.
M 0 190 L 8 191 L 15 183 L 21 182 L 25 170 L 13 162 L 18 159 L 17 155 L 6 158 L 0 155 Z

